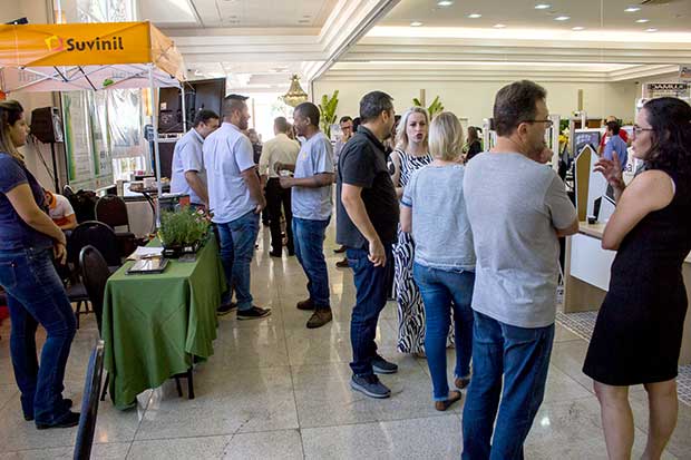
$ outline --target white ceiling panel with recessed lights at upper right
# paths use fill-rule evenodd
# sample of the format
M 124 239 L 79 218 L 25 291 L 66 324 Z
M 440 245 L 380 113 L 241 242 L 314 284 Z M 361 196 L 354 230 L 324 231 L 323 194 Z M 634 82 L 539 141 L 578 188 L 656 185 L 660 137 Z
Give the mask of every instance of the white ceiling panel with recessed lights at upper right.
M 642 0 L 455 0 L 450 7 L 437 6 L 437 0 L 402 0 L 378 26 L 409 26 L 421 21 L 422 27 L 493 28 L 497 23 L 508 28 L 586 29 L 644 31 L 656 28 L 668 32 L 691 31 L 691 1 L 655 0 L 659 4 L 640 4 Z M 536 10 L 537 3 L 552 7 Z M 631 6 L 640 11 L 625 12 Z M 481 18 L 470 19 L 470 13 Z M 556 21 L 568 16 L 566 21 Z M 636 19 L 650 22 L 636 23 Z

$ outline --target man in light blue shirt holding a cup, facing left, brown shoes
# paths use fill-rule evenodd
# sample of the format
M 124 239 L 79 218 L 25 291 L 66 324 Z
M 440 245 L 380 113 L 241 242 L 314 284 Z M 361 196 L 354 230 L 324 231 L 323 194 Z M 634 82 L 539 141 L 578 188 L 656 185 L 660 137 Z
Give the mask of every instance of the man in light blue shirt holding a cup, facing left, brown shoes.
M 298 303 L 299 310 L 314 310 L 308 327 L 321 327 L 332 320 L 329 301 L 329 274 L 324 260 L 324 233 L 331 219 L 333 150 L 329 138 L 319 130 L 319 108 L 312 102 L 295 107 L 293 120 L 298 135 L 306 139 L 294 165 L 278 164 L 294 177 L 281 177 L 281 186 L 292 187 L 293 238 L 295 255 L 308 276 L 310 297 Z

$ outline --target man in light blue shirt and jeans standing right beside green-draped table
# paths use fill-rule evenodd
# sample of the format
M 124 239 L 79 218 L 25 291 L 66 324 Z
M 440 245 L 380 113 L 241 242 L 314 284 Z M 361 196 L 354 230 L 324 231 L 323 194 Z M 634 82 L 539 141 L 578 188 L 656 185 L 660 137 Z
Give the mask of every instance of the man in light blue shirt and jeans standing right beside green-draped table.
M 221 242 L 221 262 L 228 292 L 217 309 L 220 315 L 237 307 L 239 320 L 254 320 L 271 310 L 252 305 L 250 264 L 259 233 L 259 218 L 266 200 L 262 194 L 247 129 L 250 110 L 239 95 L 223 102 L 223 125 L 204 141 L 204 165 L 208 180 L 208 206 Z M 237 305 L 231 302 L 233 290 Z

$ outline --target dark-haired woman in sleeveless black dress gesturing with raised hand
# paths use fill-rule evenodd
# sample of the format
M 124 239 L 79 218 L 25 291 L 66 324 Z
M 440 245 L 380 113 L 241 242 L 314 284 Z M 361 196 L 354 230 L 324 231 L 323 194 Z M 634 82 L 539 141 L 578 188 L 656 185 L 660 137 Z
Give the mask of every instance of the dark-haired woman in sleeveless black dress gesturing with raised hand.
M 644 385 L 650 427 L 642 458 L 659 459 L 677 424 L 682 264 L 691 251 L 691 106 L 650 100 L 636 117 L 632 147 L 645 168 L 627 187 L 616 157 L 595 166 L 617 199 L 602 239 L 616 257 L 583 371 L 595 381 L 611 459 L 631 457 L 629 386 Z

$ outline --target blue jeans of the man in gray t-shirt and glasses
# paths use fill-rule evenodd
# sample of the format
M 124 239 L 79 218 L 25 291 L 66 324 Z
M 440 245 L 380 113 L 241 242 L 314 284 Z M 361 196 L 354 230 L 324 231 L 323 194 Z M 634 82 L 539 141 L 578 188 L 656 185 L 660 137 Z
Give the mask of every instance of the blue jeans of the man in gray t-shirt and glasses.
M 554 324 L 516 327 L 475 312 L 474 333 L 473 380 L 463 412 L 463 459 L 523 459 L 523 443 L 545 395 Z

